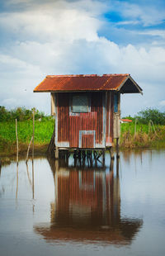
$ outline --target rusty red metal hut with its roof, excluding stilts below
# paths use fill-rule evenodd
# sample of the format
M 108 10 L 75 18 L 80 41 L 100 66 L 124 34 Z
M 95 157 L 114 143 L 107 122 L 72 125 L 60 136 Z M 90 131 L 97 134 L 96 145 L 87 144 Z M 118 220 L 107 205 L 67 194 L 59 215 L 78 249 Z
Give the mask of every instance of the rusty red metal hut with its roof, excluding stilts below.
M 142 93 L 130 74 L 49 75 L 56 149 L 106 149 L 120 136 L 120 93 Z

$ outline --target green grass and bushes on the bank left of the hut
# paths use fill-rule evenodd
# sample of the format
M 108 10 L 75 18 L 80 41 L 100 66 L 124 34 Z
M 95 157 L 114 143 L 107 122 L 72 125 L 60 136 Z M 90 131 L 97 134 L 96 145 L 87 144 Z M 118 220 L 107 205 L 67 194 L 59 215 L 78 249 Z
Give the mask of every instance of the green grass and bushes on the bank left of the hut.
M 32 110 L 18 107 L 7 111 L 0 107 L 0 154 L 16 153 L 16 119 L 19 151 L 27 150 L 33 132 Z M 54 130 L 54 118 L 35 110 L 35 149 L 45 152 Z M 36 150 L 37 151 L 37 150 Z

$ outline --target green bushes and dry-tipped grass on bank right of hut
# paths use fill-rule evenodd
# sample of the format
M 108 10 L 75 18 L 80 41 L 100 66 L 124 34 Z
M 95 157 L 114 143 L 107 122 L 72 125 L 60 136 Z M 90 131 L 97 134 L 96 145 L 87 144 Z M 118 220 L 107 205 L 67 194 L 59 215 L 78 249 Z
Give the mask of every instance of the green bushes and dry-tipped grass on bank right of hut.
M 121 125 L 121 148 L 165 147 L 165 112 L 148 108 Z

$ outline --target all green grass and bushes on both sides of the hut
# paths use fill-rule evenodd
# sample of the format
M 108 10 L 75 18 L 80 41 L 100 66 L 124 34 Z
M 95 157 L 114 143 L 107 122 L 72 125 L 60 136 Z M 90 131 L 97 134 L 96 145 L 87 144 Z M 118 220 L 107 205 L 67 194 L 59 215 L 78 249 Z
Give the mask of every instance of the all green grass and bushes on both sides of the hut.
M 0 107 L 0 155 L 16 154 L 16 121 L 19 151 L 26 152 L 30 143 L 33 121 L 33 109 L 18 107 L 7 111 Z M 165 113 L 155 109 L 140 111 L 137 116 L 125 117 L 131 123 L 121 124 L 120 147 L 164 147 L 165 148 Z M 35 110 L 35 153 L 45 153 L 54 130 L 54 118 Z

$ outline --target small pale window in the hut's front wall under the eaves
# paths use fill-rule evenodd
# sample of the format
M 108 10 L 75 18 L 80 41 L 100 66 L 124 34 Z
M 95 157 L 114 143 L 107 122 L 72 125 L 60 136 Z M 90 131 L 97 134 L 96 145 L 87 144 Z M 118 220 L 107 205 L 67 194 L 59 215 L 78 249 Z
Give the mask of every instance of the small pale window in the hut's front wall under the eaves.
M 84 95 L 79 93 L 73 95 L 71 111 L 73 113 L 84 113 L 90 111 L 89 98 L 87 94 Z

